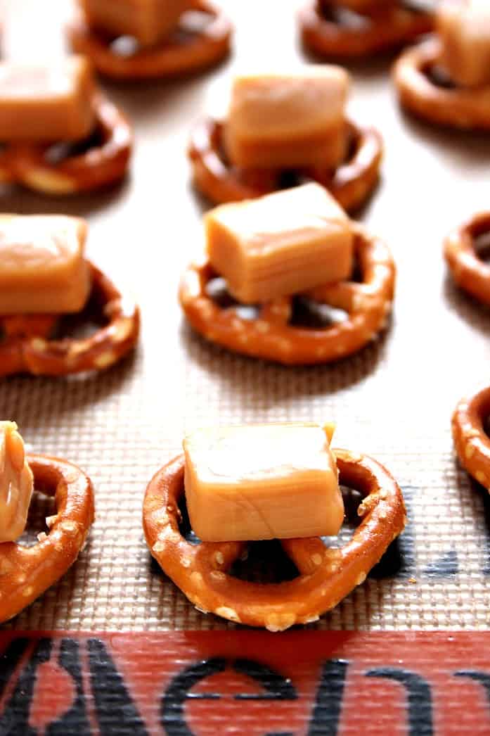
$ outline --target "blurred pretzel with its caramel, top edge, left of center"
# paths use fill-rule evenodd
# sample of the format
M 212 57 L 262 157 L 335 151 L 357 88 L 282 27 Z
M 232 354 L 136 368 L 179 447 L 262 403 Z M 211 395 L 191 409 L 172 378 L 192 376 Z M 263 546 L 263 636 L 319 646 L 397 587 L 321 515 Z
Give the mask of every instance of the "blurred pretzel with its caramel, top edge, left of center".
M 177 77 L 230 52 L 232 25 L 208 0 L 80 0 L 68 26 L 72 49 L 113 79 Z

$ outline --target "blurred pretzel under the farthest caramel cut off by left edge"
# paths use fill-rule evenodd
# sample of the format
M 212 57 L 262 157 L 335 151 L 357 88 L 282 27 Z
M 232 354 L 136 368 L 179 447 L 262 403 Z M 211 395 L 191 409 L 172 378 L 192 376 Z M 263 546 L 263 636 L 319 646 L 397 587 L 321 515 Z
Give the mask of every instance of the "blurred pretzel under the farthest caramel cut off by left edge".
M 11 144 L 0 160 L 0 181 L 15 181 L 45 194 L 75 194 L 112 184 L 124 177 L 132 149 L 132 130 L 127 119 L 102 95 L 97 94 L 96 135 L 101 143 L 85 153 L 68 155 L 50 163 L 52 144 Z M 5 172 L 5 173 L 4 173 Z

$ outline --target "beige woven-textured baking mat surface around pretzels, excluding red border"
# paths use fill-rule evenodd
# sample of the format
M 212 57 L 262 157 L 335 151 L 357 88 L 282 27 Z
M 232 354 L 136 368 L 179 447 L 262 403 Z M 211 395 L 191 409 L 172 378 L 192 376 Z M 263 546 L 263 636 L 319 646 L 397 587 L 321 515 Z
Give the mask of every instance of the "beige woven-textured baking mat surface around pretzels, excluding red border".
M 150 565 L 141 531 L 149 478 L 180 451 L 182 434 L 199 425 L 335 420 L 337 446 L 371 453 L 408 489 L 411 525 L 400 573 L 369 579 L 317 626 L 485 629 L 489 528 L 483 494 L 453 459 L 450 414 L 462 394 L 489 381 L 490 312 L 454 289 L 441 240 L 490 205 L 490 140 L 405 118 L 388 63 L 357 66 L 350 111 L 375 124 L 386 140 L 383 180 L 362 219 L 386 238 L 397 261 L 391 329 L 333 367 L 286 369 L 210 347 L 185 327 L 176 300 L 180 272 L 202 244 L 205 208 L 189 183 L 188 134 L 204 111 L 224 110 L 236 70 L 305 60 L 295 28 L 297 2 L 221 2 L 236 26 L 228 63 L 170 84 L 104 85 L 135 125 L 127 183 L 73 199 L 0 193 L 2 211 L 87 217 L 90 257 L 127 283 L 143 314 L 137 355 L 110 372 L 0 384 L 1 418 L 18 422 L 32 450 L 84 468 L 96 488 L 97 511 L 77 565 L 10 626 L 227 626 L 196 612 Z M 69 13 L 65 0 L 4 1 L 4 56 L 62 54 Z

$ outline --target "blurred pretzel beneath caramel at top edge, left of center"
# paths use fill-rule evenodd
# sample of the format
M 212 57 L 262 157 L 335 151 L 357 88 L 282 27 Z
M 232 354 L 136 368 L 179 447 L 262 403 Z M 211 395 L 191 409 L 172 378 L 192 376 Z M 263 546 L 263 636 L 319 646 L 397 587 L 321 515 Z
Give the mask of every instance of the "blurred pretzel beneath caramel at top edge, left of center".
M 168 40 L 128 56 L 113 48 L 113 38 L 90 29 L 82 18 L 73 21 L 68 34 L 74 51 L 88 56 L 97 71 L 106 77 L 151 79 L 190 74 L 226 57 L 232 34 L 226 15 L 207 0 L 193 0 L 192 10 L 210 18 L 202 32 L 189 35 L 184 24 Z

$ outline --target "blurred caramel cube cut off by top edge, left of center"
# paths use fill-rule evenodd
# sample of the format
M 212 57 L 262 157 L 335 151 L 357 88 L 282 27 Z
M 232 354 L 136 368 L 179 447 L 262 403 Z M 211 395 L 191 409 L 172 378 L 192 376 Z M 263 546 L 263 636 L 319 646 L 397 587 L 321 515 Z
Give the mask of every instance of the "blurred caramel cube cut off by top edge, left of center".
M 177 26 L 191 0 L 80 0 L 88 25 L 152 46 Z

